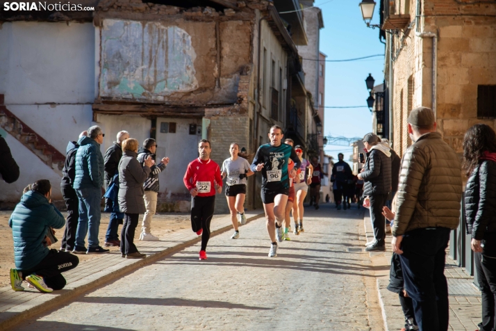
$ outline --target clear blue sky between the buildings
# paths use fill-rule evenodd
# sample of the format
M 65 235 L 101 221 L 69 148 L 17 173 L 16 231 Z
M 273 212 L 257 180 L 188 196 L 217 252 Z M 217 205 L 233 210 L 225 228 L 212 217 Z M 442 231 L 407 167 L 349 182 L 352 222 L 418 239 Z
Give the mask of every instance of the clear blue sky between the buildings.
M 328 1 L 316 0 L 314 4 L 322 9 L 324 17 L 324 29 L 320 30 L 320 50 L 326 54 L 327 60 L 384 54 L 379 30 L 367 28 L 363 22 L 359 0 Z M 372 24 L 379 24 L 379 2 Z M 375 85 L 382 83 L 383 64 L 382 57 L 327 62 L 325 106 L 367 106 L 365 100 L 369 94 L 365 78 L 370 73 L 376 80 Z M 325 108 L 324 114 L 326 136 L 363 137 L 372 131 L 372 114 L 368 108 Z M 336 159 L 338 151 L 345 154 L 345 160 L 352 154 L 351 147 L 327 145 L 324 150 Z

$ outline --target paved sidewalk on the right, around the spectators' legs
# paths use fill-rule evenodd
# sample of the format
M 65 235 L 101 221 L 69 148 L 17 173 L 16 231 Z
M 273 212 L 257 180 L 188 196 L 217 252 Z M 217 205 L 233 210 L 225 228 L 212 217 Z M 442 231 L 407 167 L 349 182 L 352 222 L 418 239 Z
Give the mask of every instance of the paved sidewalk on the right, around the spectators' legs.
M 367 241 L 374 238 L 370 216 L 363 218 L 365 236 Z M 389 266 L 392 253 L 390 242 L 392 236 L 386 236 L 386 252 L 370 253 L 374 266 L 380 271 L 376 273 L 377 291 L 384 318 L 384 330 L 400 330 L 404 327 L 404 316 L 402 307 L 399 305 L 397 293 L 392 293 L 386 289 L 389 284 Z M 384 268 L 388 266 L 388 268 Z M 472 277 L 463 268 L 456 265 L 456 262 L 446 257 L 445 276 L 448 282 L 449 292 L 449 329 L 450 331 L 478 330 L 477 323 L 481 321 L 481 293 L 474 284 Z

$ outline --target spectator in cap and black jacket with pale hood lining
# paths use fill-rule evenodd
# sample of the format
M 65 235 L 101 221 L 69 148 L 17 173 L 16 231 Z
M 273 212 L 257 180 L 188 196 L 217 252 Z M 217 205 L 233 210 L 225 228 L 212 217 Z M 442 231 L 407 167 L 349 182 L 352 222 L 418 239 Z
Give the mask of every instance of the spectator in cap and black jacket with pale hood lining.
M 363 196 L 370 199 L 370 220 L 374 228 L 374 240 L 365 250 L 386 250 L 386 220 L 382 209 L 391 191 L 391 152 L 381 144 L 375 134 L 366 134 L 363 144 L 367 150 L 367 160 L 358 179 L 363 179 Z

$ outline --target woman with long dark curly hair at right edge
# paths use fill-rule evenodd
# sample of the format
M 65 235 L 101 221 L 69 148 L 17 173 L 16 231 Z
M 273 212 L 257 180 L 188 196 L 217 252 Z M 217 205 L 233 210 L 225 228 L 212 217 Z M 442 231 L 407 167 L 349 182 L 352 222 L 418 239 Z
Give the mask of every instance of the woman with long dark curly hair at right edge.
M 468 129 L 463 141 L 467 232 L 481 290 L 479 330 L 496 330 L 496 133 L 486 124 Z

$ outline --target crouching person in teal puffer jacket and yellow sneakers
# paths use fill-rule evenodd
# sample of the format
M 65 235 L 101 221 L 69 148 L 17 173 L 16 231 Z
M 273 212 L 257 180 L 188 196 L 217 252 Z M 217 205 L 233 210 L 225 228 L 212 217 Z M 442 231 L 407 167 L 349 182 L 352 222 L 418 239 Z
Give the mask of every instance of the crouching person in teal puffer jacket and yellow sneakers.
M 47 179 L 35 181 L 31 191 L 22 195 L 8 226 L 14 238 L 15 269 L 10 269 L 14 291 L 23 291 L 22 280 L 40 292 L 63 289 L 66 281 L 61 273 L 76 268 L 78 257 L 63 251 L 49 250 L 43 241 L 51 228 L 60 229 L 65 218 L 51 204 L 51 184 Z

